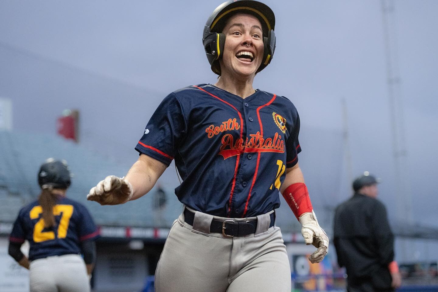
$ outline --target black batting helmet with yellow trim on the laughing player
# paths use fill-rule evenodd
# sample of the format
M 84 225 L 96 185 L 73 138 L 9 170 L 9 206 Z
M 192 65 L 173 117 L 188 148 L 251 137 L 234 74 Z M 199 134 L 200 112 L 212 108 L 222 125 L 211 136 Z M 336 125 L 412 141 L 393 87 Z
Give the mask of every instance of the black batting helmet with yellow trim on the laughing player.
M 254 15 L 261 23 L 263 31 L 263 45 L 265 48 L 263 59 L 257 72 L 263 70 L 272 60 L 274 55 L 276 37 L 274 33 L 275 16 L 271 8 L 254 0 L 230 0 L 219 5 L 205 23 L 202 34 L 202 43 L 212 71 L 221 74 L 218 60 L 222 58 L 225 46 L 225 35 L 222 33 L 226 20 L 236 13 Z M 256 73 L 257 73 L 256 72 Z

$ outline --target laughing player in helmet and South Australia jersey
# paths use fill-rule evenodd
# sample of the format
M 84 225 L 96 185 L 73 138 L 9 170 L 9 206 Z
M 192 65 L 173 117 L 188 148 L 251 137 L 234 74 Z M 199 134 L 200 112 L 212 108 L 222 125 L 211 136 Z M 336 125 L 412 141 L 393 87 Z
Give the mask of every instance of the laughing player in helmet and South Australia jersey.
M 123 204 L 152 189 L 170 162 L 185 205 L 173 223 L 155 272 L 157 292 L 290 292 L 290 265 L 275 225 L 279 191 L 303 225 L 307 244 L 327 253 L 297 154 L 300 119 L 283 96 L 253 88 L 272 60 L 275 17 L 257 1 L 227 1 L 202 35 L 213 84 L 170 93 L 149 120 L 124 178 L 108 176 L 88 200 Z

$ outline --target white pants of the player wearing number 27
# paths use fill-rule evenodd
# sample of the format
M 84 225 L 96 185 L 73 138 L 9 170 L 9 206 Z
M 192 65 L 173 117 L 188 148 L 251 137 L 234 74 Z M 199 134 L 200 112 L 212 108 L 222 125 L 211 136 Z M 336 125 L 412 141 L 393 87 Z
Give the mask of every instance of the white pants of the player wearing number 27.
M 90 292 L 85 262 L 77 254 L 32 260 L 29 270 L 30 292 Z

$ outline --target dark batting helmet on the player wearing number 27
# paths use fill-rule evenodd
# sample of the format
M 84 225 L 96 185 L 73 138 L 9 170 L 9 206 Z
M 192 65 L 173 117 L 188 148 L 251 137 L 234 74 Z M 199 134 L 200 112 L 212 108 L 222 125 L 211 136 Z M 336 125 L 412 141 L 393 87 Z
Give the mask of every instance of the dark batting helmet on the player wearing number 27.
M 49 185 L 56 189 L 67 189 L 70 186 L 70 171 L 65 160 L 49 158 L 39 168 L 39 186 Z

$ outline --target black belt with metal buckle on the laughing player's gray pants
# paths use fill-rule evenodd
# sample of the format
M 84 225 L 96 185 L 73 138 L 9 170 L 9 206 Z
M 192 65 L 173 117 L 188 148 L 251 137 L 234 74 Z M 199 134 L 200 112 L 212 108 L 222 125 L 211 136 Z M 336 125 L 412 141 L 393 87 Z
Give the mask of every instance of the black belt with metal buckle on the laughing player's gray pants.
M 275 221 L 274 214 L 275 212 L 272 212 L 270 215 L 271 224 L 269 225 L 269 227 L 274 226 L 274 221 Z M 187 224 L 193 226 L 194 213 L 188 210 L 187 208 L 184 209 L 184 221 L 187 222 Z M 232 219 L 225 221 L 219 221 L 213 219 L 212 223 L 210 224 L 210 233 L 222 233 L 223 236 L 225 237 L 245 236 L 248 234 L 255 233 L 256 229 L 257 229 L 257 219 L 247 222 L 235 222 Z

